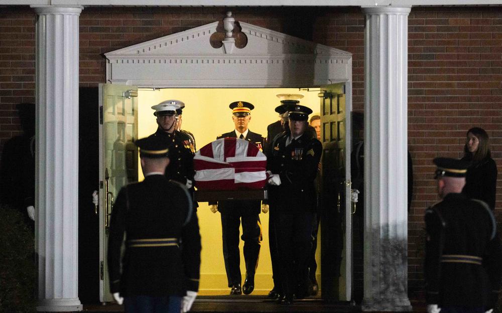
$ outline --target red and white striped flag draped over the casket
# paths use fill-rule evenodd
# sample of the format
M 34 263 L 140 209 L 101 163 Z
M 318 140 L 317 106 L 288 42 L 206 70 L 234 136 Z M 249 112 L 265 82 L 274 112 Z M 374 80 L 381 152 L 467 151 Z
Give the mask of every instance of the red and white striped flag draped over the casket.
M 253 143 L 238 138 L 214 140 L 195 153 L 198 190 L 261 189 L 267 182 L 267 158 Z

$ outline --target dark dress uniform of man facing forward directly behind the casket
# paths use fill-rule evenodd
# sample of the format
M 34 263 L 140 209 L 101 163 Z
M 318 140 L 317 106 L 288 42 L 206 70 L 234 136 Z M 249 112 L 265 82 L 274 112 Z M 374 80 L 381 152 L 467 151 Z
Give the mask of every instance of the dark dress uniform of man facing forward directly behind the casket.
M 232 130 L 221 134 L 216 139 L 226 137 L 236 138 L 237 135 Z M 262 148 L 265 142 L 265 138 L 261 134 L 250 130 L 247 131 L 247 135 L 243 139 L 255 143 L 259 148 Z M 225 260 L 228 287 L 241 283 L 239 252 L 239 225 L 241 222 L 246 277 L 252 276 L 254 281 L 260 255 L 260 242 L 262 241 L 260 208 L 260 200 L 226 200 L 218 202 L 218 211 L 221 213 L 223 259 Z

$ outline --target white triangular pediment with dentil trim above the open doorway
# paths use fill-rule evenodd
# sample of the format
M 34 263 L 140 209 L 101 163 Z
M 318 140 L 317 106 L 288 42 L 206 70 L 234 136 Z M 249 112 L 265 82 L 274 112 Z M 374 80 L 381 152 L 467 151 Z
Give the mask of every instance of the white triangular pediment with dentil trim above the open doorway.
M 105 53 L 107 80 L 158 87 L 296 87 L 351 80 L 348 52 L 239 25 L 247 44 L 231 52 L 211 46 L 214 22 Z

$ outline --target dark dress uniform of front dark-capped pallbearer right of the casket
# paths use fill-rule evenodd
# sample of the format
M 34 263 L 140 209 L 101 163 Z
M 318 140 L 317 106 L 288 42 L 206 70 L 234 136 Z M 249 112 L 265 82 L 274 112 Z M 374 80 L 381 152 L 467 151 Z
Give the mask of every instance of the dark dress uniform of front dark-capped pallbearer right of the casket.
M 311 250 L 312 223 L 317 208 L 314 180 L 322 145 L 303 133 L 286 145 L 288 133 L 278 136 L 267 155 L 267 170 L 279 174 L 280 186 L 269 186 L 270 212 L 275 214 L 275 234 L 280 260 L 282 291 L 292 301 L 306 296 L 305 262 Z

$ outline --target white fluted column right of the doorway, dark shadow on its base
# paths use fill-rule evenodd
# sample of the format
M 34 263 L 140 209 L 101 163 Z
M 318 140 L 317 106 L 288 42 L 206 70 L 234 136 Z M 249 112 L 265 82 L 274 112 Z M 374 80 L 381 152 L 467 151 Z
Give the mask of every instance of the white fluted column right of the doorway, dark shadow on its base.
M 408 299 L 408 14 L 363 8 L 364 311 L 410 311 Z

